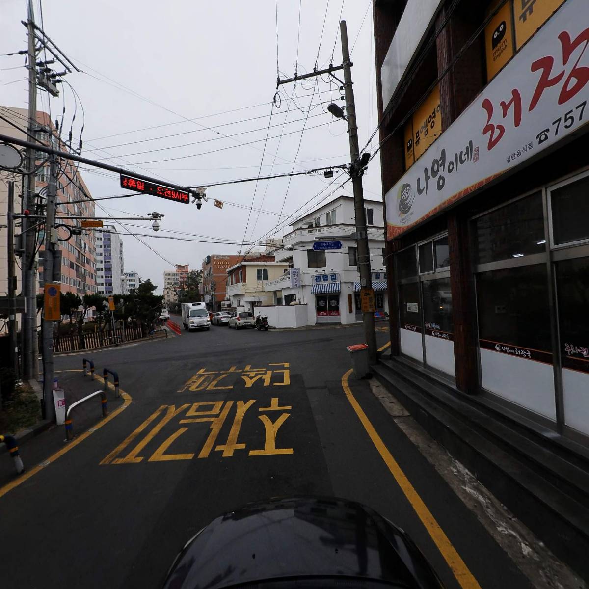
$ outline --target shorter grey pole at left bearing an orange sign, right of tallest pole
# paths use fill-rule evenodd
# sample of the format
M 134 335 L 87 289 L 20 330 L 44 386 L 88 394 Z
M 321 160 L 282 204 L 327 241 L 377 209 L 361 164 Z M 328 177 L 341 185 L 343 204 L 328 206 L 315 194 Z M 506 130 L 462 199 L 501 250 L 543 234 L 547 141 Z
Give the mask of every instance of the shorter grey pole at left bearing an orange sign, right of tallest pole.
M 49 185 L 47 189 L 47 220 L 45 222 L 45 258 L 43 262 L 44 283 L 53 281 L 55 200 L 57 198 L 57 161 L 51 156 L 49 166 Z M 47 311 L 47 310 L 46 310 Z M 53 403 L 53 322 L 43 318 L 43 402 L 45 419 L 55 420 Z

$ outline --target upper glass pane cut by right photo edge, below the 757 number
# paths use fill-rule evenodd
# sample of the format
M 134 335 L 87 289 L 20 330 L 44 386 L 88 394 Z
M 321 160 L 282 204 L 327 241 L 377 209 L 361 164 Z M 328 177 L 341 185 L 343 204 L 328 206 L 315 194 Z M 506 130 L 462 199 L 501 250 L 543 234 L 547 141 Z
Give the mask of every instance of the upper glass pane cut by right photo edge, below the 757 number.
M 554 244 L 589 239 L 589 176 L 550 193 Z

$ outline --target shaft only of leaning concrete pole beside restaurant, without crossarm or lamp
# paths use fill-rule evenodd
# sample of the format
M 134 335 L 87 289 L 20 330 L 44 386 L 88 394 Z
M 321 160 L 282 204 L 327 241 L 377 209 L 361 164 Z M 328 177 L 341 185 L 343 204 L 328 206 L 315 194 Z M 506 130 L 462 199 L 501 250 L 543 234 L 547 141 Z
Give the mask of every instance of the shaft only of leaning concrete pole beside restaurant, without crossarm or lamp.
M 339 24 L 342 38 L 342 61 L 344 93 L 346 97 L 346 117 L 348 118 L 348 134 L 350 138 L 350 158 L 352 160 L 352 186 L 354 190 L 354 210 L 356 213 L 356 244 L 358 245 L 358 266 L 360 284 L 363 288 L 372 289 L 372 273 L 370 272 L 370 249 L 368 246 L 368 228 L 366 227 L 366 210 L 364 208 L 364 191 L 362 188 L 362 169 L 359 166 L 360 148 L 358 144 L 358 125 L 356 125 L 356 106 L 352 87 L 352 68 L 348 48 L 348 29 L 346 21 Z M 364 337 L 368 344 L 368 356 L 371 364 L 376 363 L 376 332 L 374 313 L 362 313 L 364 319 Z

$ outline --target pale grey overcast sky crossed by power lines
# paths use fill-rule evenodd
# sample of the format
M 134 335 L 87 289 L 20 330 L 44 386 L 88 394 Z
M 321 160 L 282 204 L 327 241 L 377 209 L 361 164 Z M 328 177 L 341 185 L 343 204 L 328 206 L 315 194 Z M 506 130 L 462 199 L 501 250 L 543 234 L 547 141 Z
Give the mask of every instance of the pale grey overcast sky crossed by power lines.
M 18 68 L 24 65 L 24 58 L 4 55 L 27 47 L 26 29 L 21 24 L 26 19 L 26 2 L 0 0 L 0 4 L 0 104 L 26 108 L 27 72 Z M 369 0 L 344 0 L 342 10 L 342 0 L 302 0 L 299 32 L 299 2 L 277 2 L 281 77 L 291 77 L 296 62 L 299 73 L 312 71 L 318 50 L 317 68 L 326 67 L 334 44 L 333 62 L 341 63 L 338 23 L 342 11 L 348 24 L 350 49 L 355 44 L 352 79 L 360 147 L 377 124 L 370 4 Z M 39 0 L 34 0 L 34 5 L 35 18 L 41 25 Z M 65 79 L 77 92 L 85 112 L 85 157 L 183 186 L 257 177 L 262 156 L 262 175 L 289 173 L 295 158 L 294 171 L 348 163 L 347 125 L 323 111 L 329 101 L 340 105 L 343 102 L 337 100 L 337 85 L 329 84 L 325 77 L 316 85 L 310 79 L 297 83 L 296 88 L 293 84 L 280 88 L 282 104 L 273 109 L 273 126 L 268 130 L 266 153 L 262 153 L 276 91 L 275 6 L 269 0 L 45 0 L 45 33 L 84 71 Z M 325 104 L 320 105 L 320 101 Z M 59 97 L 51 99 L 53 119 L 61 119 L 64 104 L 67 133 L 76 103 L 65 84 Z M 38 109 L 48 108 L 47 92 L 39 92 Z M 193 119 L 197 120 L 190 121 Z M 74 137 L 79 137 L 83 122 L 78 103 Z M 378 135 L 374 145 L 377 140 Z M 252 141 L 257 143 L 240 145 Z M 203 154 L 210 151 L 215 153 Z M 82 176 L 94 198 L 125 192 L 116 174 L 89 170 Z M 254 198 L 245 236 L 246 242 L 251 242 L 274 233 L 282 237 L 292 219 L 279 219 L 281 209 L 289 215 L 307 201 L 309 204 L 300 213 L 320 204 L 345 176 L 335 174 L 334 178 L 330 187 L 327 184 L 332 179 L 314 174 L 293 177 L 290 186 L 288 178 L 280 178 L 259 181 L 257 188 L 255 183 L 208 188 L 208 196 L 226 203 L 222 210 L 214 207 L 212 200 L 199 211 L 193 204 L 170 203 L 153 196 L 99 203 L 112 216 L 164 213 L 158 238 L 241 241 Z M 352 196 L 350 184 L 330 198 L 337 194 Z M 364 188 L 366 198 L 382 200 L 379 158 L 370 164 Z M 320 191 L 323 193 L 313 198 Z M 256 209 L 264 212 L 258 213 Z M 97 208 L 96 214 L 104 213 Z M 173 267 L 171 264 L 189 263 L 191 268 L 198 269 L 207 254 L 237 253 L 240 249 L 239 245 L 157 239 L 148 221 L 123 223 L 127 223 L 126 229 L 131 233 L 146 234 L 148 237 L 141 239 L 157 252 L 127 234 L 123 237 L 125 270 L 137 270 L 143 279 L 150 278 L 160 287 L 158 292 L 163 271 Z M 127 233 L 122 227 L 120 232 Z M 247 246 L 243 248 L 246 249 Z

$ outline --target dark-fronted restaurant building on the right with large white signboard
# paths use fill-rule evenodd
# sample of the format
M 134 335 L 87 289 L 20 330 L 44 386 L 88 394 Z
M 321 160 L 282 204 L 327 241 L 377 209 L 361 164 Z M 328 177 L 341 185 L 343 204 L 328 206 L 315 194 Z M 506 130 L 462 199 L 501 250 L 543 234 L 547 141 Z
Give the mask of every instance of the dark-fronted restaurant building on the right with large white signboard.
M 589 8 L 454 4 L 374 4 L 391 353 L 588 445 Z

